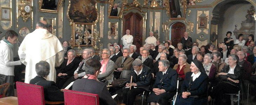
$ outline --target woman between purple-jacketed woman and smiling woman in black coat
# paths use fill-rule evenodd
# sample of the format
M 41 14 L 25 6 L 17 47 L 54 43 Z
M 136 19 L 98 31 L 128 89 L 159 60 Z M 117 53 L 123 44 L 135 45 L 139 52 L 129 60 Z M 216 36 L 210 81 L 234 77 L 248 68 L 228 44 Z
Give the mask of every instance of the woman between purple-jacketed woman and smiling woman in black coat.
M 226 63 L 223 62 L 223 60 L 221 60 L 221 52 L 213 52 L 213 63 L 216 66 L 216 76 L 218 77 L 218 73 L 221 72 L 221 70 L 224 68 L 224 66 L 226 65 Z

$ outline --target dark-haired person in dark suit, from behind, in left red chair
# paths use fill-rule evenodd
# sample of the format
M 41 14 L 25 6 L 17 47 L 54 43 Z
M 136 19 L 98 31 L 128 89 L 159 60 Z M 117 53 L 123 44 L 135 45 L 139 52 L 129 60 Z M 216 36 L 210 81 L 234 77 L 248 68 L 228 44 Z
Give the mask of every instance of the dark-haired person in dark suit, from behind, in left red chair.
M 43 86 L 45 92 L 45 100 L 47 101 L 64 101 L 63 92 L 57 87 L 53 81 L 46 80 L 49 75 L 50 65 L 46 61 L 40 61 L 35 65 L 35 71 L 38 76 L 31 79 L 29 84 Z

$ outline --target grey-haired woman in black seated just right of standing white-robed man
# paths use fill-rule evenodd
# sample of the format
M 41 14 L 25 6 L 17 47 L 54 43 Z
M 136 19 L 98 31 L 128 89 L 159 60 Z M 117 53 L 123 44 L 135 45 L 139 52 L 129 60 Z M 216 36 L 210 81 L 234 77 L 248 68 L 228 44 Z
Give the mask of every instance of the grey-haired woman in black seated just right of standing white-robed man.
M 56 84 L 59 88 L 63 86 L 63 84 L 74 75 L 74 71 L 78 68 L 80 60 L 76 58 L 75 50 L 68 50 L 68 59 L 65 59 L 63 63 L 56 67 Z

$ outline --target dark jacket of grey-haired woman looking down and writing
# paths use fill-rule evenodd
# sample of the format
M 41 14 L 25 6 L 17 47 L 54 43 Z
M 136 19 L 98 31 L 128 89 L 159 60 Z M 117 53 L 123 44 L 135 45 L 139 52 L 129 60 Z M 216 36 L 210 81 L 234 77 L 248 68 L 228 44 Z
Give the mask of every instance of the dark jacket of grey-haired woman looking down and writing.
M 150 68 L 146 65 L 143 65 L 140 75 L 137 75 L 133 68 L 131 69 L 131 71 L 131 74 L 133 75 L 133 82 L 137 84 L 137 87 L 149 91 L 149 86 L 152 79 Z

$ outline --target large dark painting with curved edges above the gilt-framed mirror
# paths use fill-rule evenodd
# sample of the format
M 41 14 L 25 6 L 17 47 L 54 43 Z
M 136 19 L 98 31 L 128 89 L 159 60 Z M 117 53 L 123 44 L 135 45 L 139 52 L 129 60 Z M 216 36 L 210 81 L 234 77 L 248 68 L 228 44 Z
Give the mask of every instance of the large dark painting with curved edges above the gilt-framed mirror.
M 76 23 L 93 23 L 97 20 L 94 0 L 70 0 L 69 18 Z

